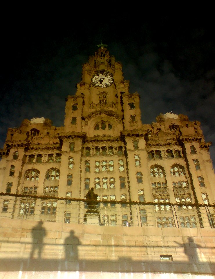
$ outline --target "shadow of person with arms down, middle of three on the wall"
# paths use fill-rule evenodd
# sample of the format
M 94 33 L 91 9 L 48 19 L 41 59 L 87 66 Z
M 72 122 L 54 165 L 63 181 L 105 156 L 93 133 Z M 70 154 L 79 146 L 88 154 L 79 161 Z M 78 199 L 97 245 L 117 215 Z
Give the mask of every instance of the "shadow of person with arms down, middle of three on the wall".
M 78 260 L 78 246 L 79 239 L 74 235 L 74 231 L 70 231 L 70 235 L 65 238 L 64 249 L 65 249 L 65 260 L 66 261 L 77 261 Z

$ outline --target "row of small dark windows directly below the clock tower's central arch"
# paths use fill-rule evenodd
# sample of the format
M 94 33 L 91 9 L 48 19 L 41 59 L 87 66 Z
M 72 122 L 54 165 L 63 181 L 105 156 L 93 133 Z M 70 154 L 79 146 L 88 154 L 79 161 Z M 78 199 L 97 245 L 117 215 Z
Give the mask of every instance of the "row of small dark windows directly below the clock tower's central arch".
M 70 151 L 73 151 L 73 150 L 71 150 L 71 148 L 70 148 Z M 83 154 L 85 156 L 93 156 L 93 155 L 96 155 L 96 156 L 100 156 L 100 155 L 103 155 L 103 156 L 106 156 L 106 155 L 122 156 L 124 154 L 124 148 L 123 148 L 123 146 L 101 146 L 101 147 L 99 147 L 99 146 L 95 146 L 95 147 L 86 146 L 86 147 L 84 147 Z

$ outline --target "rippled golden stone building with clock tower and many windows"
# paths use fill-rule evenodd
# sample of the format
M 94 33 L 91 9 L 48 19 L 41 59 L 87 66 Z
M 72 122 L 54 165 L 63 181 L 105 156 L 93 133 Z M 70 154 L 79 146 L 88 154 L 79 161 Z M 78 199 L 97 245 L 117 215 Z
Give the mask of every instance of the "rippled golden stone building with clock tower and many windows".
M 35 118 L 8 130 L 1 216 L 213 228 L 214 174 L 200 123 L 166 113 L 142 124 L 139 105 L 121 64 L 100 47 L 66 99 L 63 127 Z

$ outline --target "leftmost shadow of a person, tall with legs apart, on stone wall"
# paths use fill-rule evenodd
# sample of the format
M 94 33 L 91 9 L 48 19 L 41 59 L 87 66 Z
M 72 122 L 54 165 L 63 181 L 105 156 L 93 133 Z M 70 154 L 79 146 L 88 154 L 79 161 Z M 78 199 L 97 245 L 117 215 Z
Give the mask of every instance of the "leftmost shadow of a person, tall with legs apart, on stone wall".
M 43 250 L 43 240 L 46 236 L 46 230 L 43 227 L 43 221 L 39 221 L 38 224 L 32 228 L 32 249 L 30 253 L 30 258 L 33 258 L 33 255 L 36 250 L 38 250 L 38 258 L 41 259 L 41 253 Z

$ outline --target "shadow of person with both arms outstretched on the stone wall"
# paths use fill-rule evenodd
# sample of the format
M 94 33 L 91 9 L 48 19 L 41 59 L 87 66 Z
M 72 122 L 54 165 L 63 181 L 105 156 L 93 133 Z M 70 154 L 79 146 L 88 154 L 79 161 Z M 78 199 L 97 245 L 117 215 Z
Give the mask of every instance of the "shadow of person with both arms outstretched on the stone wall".
M 188 237 L 187 238 L 188 242 L 187 243 L 179 243 L 175 241 L 180 246 L 183 246 L 185 255 L 187 255 L 189 262 L 199 262 L 199 257 L 197 253 L 197 248 L 205 248 L 201 245 L 198 245 L 194 242 L 193 237 Z

